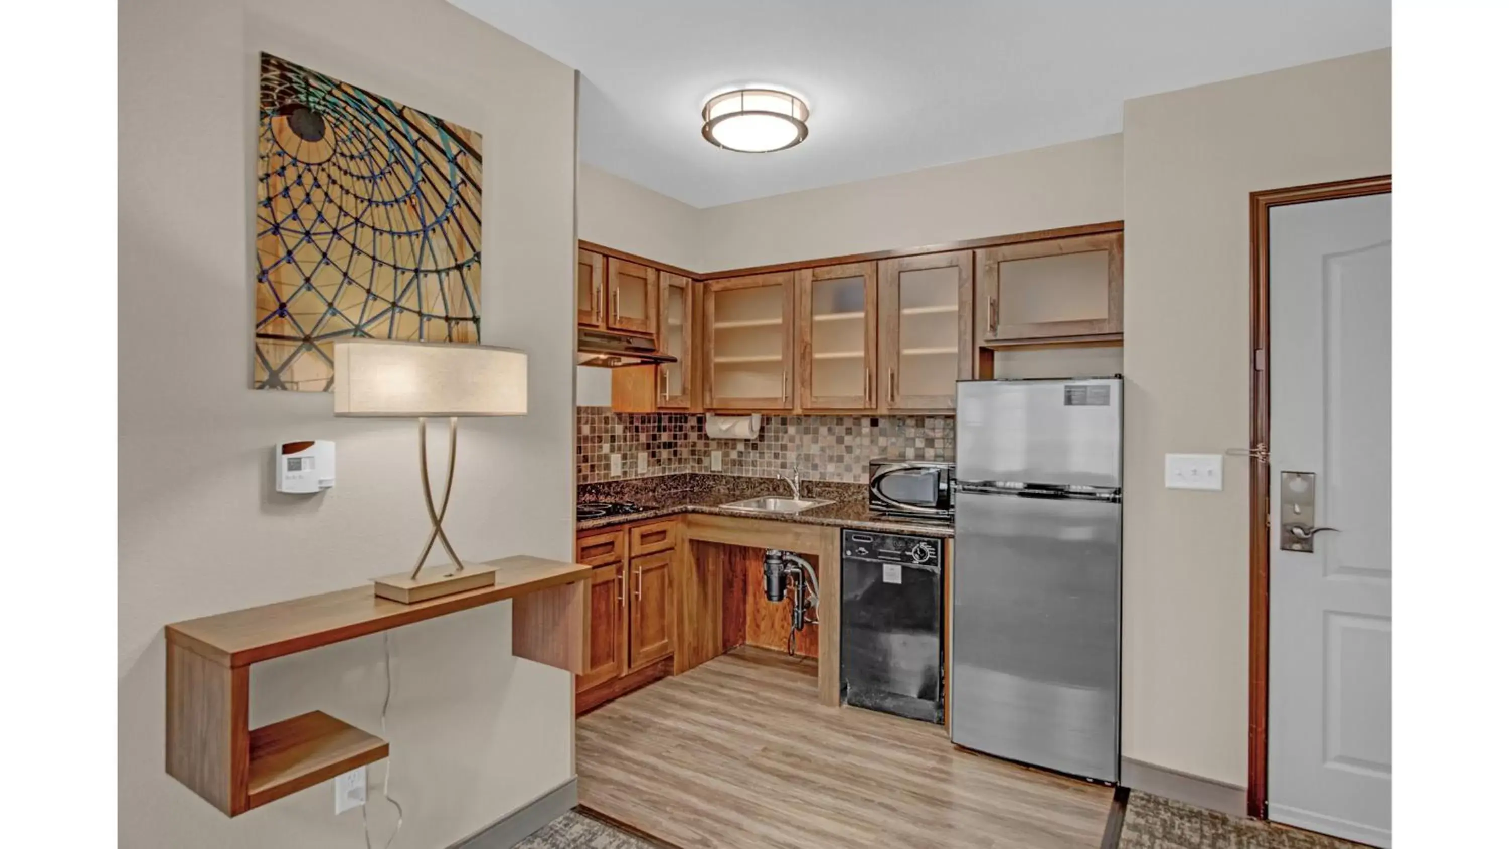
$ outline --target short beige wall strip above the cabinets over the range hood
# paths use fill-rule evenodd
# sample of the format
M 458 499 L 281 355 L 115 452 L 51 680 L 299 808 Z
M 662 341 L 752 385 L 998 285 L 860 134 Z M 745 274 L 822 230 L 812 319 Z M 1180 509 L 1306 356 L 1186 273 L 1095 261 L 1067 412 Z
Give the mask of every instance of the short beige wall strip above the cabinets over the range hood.
M 638 182 L 581 164 L 576 232 L 587 241 L 702 271 L 699 213 Z

